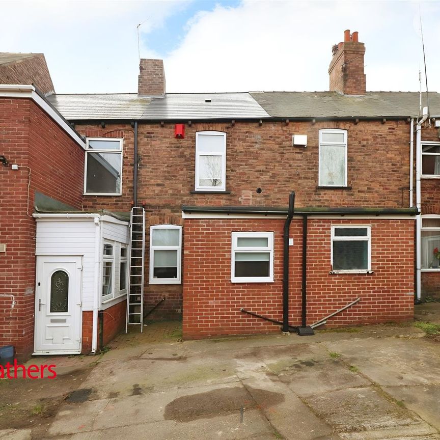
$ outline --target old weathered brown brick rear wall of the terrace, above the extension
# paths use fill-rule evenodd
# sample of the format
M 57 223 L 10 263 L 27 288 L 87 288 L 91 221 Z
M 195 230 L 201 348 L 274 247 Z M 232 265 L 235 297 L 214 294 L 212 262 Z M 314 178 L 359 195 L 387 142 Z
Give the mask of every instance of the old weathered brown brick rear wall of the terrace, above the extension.
M 318 188 L 318 130 L 348 130 L 347 189 Z M 128 124 L 77 124 L 89 137 L 124 138 L 122 196 L 86 196 L 85 209 L 128 212 L 133 199 L 133 129 Z M 195 186 L 196 132 L 227 133 L 226 187 L 230 194 L 191 194 Z M 138 200 L 147 216 L 145 308 L 166 300 L 149 318 L 174 319 L 182 308 L 181 285 L 148 285 L 149 225 L 180 224 L 182 205 L 285 206 L 296 191 L 300 207 L 407 207 L 409 124 L 406 122 L 193 123 L 185 139 L 175 139 L 174 124 L 139 123 Z M 292 134 L 308 134 L 307 148 L 292 147 Z M 256 192 L 261 188 L 261 194 Z M 185 231 L 183 231 L 185 240 Z

